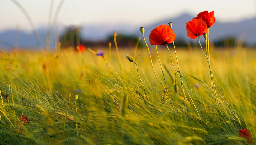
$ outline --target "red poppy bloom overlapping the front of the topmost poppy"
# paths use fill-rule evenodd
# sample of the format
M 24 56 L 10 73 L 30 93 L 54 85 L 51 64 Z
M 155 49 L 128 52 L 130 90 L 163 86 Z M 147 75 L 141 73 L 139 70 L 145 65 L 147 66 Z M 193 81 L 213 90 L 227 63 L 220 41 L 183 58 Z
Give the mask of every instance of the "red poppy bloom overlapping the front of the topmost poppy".
M 191 39 L 195 39 L 198 36 L 207 33 L 206 22 L 201 19 L 192 19 L 186 23 L 187 36 Z

